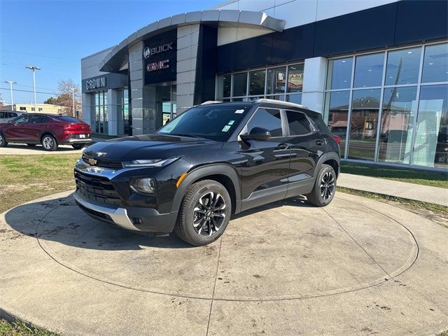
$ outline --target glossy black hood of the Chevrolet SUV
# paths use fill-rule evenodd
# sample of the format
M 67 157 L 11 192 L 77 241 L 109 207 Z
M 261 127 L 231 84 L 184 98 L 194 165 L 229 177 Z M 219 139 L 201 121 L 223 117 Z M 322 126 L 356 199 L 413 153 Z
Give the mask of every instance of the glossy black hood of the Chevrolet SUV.
M 187 158 L 207 146 L 207 150 L 219 149 L 223 143 L 208 139 L 176 137 L 169 135 L 139 135 L 98 142 L 85 148 L 84 153 L 92 158 L 107 160 L 149 160 Z

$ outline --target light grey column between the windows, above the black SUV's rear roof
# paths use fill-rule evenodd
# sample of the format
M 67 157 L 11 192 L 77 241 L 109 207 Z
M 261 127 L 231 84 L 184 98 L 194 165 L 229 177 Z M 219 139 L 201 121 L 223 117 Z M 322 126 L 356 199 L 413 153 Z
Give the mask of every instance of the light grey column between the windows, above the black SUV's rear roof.
M 321 114 L 323 114 L 326 72 L 327 59 L 325 57 L 305 59 L 302 104 Z

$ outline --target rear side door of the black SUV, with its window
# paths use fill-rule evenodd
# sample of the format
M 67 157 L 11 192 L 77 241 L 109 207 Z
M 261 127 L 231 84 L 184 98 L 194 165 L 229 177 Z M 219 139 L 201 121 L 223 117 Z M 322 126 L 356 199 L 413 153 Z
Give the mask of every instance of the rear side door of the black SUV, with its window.
M 290 175 L 288 196 L 300 195 L 314 181 L 315 168 L 319 158 L 326 151 L 324 137 L 311 123 L 305 113 L 285 111 L 288 118 L 288 143 L 290 144 Z M 303 187 L 303 188 L 302 188 Z

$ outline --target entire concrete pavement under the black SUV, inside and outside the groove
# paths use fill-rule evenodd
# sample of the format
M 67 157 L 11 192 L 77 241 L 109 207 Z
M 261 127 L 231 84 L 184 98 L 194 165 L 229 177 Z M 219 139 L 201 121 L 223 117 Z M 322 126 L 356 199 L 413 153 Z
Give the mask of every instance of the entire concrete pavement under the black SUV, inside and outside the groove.
M 2 214 L 0 232 L 0 308 L 64 335 L 448 328 L 448 230 L 363 197 L 269 204 L 203 247 L 94 221 L 70 193 Z

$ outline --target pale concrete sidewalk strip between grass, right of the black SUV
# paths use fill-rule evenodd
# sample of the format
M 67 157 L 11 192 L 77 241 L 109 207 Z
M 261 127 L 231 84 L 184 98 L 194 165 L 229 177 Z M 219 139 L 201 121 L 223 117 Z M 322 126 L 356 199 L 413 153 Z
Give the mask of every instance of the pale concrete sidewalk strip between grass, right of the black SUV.
M 448 189 L 444 188 L 343 173 L 337 186 L 448 207 Z

